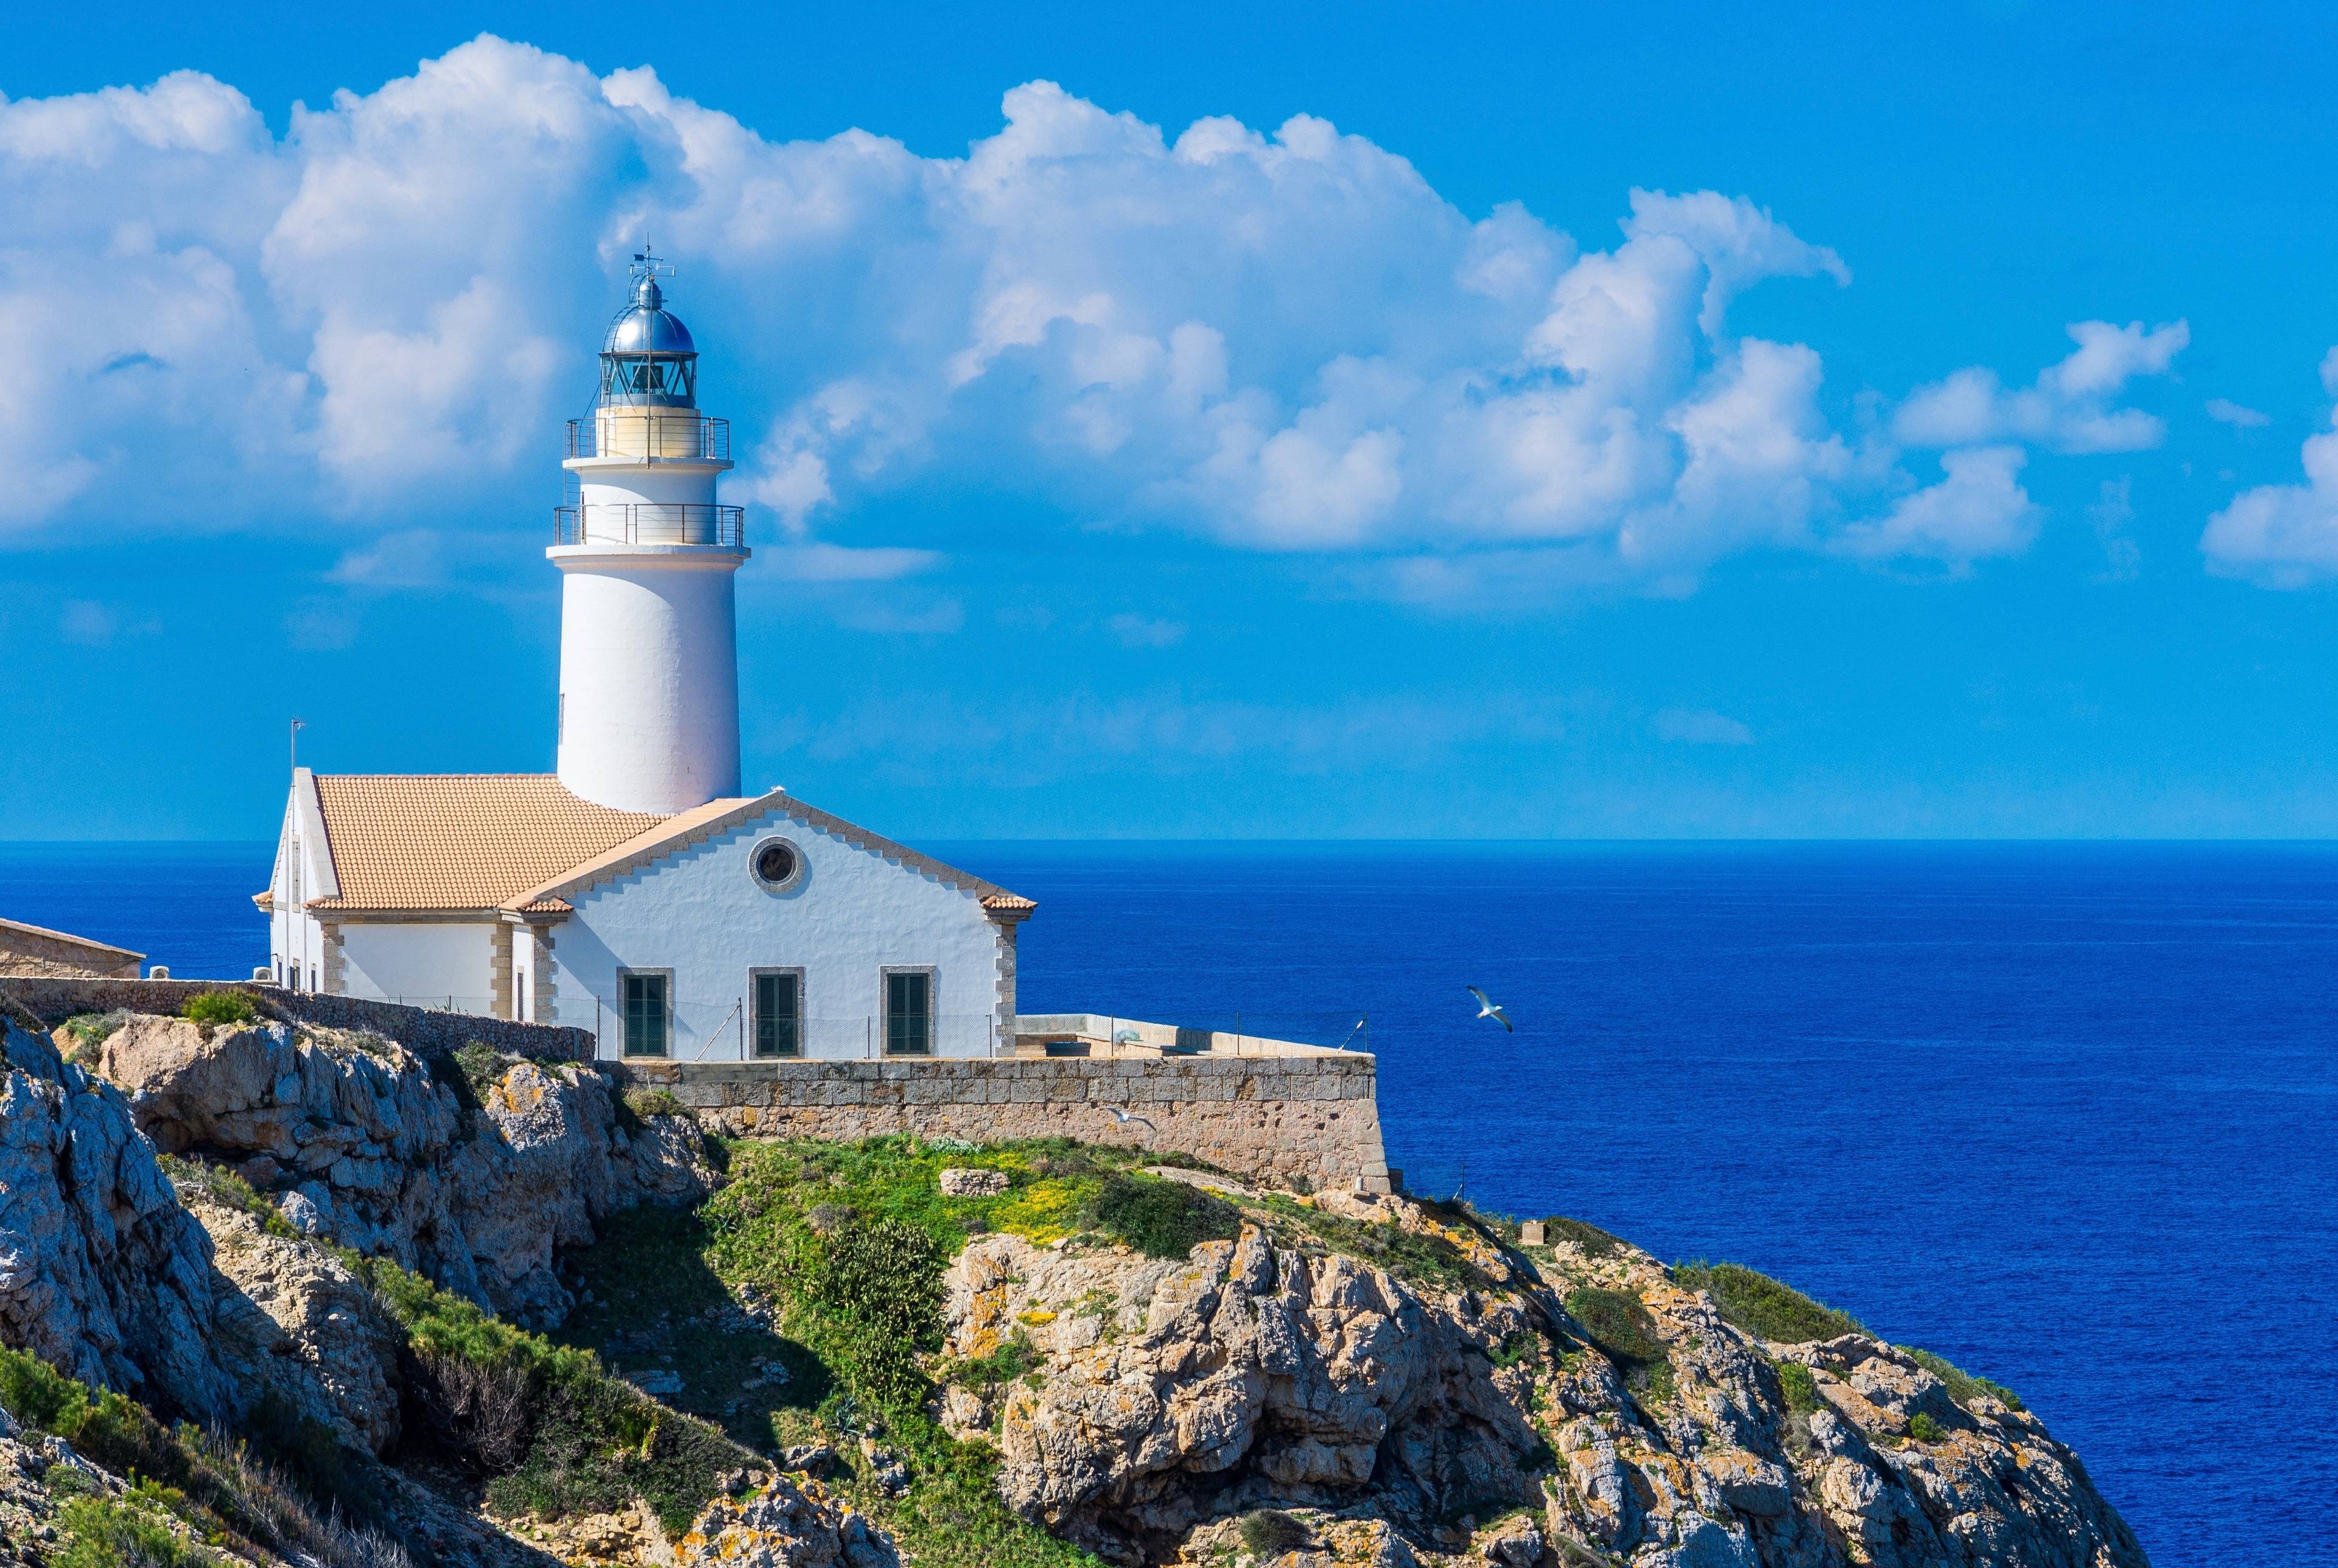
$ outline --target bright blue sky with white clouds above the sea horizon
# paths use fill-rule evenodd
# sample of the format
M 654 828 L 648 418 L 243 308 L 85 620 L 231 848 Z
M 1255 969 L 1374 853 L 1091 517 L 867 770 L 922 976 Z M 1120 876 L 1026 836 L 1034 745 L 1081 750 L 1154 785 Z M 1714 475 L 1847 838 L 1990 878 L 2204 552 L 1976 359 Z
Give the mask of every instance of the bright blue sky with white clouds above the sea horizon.
M 14 19 L 0 837 L 267 837 L 292 713 L 549 766 L 643 227 L 741 446 L 753 785 L 2338 832 L 2315 12 L 846 9 Z

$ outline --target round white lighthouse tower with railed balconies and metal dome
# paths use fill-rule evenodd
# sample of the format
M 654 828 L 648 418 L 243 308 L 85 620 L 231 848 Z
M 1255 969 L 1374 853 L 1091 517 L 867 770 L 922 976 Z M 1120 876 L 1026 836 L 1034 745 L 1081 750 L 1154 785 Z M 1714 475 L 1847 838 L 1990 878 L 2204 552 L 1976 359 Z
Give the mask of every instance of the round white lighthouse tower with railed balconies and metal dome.
M 715 502 L 729 421 L 699 414 L 699 351 L 664 308 L 657 259 L 601 344 L 601 397 L 568 421 L 559 778 L 620 811 L 739 795 L 739 507 Z

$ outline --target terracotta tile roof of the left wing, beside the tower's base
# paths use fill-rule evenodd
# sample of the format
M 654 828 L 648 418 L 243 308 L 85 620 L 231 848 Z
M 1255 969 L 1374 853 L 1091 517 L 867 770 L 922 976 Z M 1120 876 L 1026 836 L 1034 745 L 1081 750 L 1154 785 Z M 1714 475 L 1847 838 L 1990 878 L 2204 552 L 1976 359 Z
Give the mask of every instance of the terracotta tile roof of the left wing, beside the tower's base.
M 552 773 L 318 773 L 339 897 L 311 909 L 496 909 L 666 818 Z

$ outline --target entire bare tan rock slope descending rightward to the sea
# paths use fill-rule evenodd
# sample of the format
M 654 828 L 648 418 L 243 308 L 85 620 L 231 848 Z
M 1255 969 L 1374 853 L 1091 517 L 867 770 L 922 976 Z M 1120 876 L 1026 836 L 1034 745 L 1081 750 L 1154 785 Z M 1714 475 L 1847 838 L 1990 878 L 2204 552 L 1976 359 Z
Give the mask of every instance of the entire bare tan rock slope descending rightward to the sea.
M 1253 1561 L 1237 1531 L 1293 1510 L 1277 1568 L 2142 1568 L 2076 1456 L 2020 1409 L 1950 1397 L 1866 1334 L 1765 1344 L 1637 1248 L 1534 1262 L 1405 1199 L 1323 1194 L 1337 1220 L 1438 1239 L 1396 1274 L 1248 1210 L 1188 1260 L 982 1236 L 952 1264 L 956 1365 L 1029 1341 L 1031 1376 L 938 1409 L 1001 1449 L 1024 1517 L 1118 1563 Z M 1609 1353 L 1562 1306 L 1639 1302 Z M 1782 1367 L 1807 1369 L 1789 1404 Z

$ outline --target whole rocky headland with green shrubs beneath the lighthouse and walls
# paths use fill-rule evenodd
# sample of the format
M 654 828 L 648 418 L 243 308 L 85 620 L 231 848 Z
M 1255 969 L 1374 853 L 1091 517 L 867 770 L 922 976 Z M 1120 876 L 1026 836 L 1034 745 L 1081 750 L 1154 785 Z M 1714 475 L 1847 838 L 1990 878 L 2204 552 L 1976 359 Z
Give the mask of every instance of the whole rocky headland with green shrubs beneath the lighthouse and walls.
M 589 1070 L 306 1026 L 5 1052 L 0 1341 L 351 1456 L 379 1535 L 171 1461 L 243 1479 L 154 1528 L 269 1568 L 2144 1563 L 2008 1390 L 1571 1222 L 1068 1143 L 718 1171 Z M 0 1521 L 47 1563 L 72 1498 L 147 1505 L 12 1376 Z

